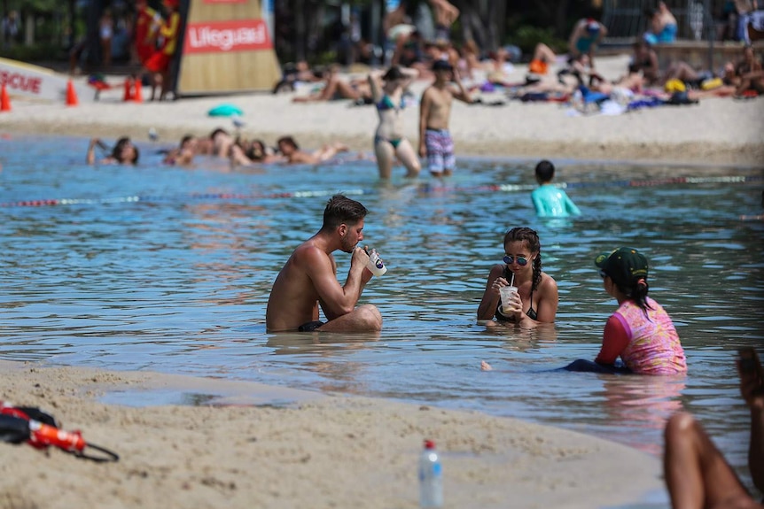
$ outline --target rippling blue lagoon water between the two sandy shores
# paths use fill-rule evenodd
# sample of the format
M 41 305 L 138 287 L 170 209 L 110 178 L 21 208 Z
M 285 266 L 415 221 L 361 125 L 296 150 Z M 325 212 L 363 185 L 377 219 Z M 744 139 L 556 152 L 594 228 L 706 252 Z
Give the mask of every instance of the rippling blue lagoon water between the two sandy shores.
M 463 161 L 447 181 L 380 183 L 353 161 L 229 171 L 200 159 L 84 165 L 87 140 L 0 139 L 0 358 L 251 380 L 473 409 L 561 426 L 659 454 L 667 416 L 698 415 L 744 475 L 748 417 L 737 347 L 761 346 L 764 326 L 762 172 L 751 169 L 558 164 L 583 216 L 538 220 L 533 164 Z M 677 175 L 745 177 L 657 181 Z M 623 185 L 625 180 L 643 186 Z M 362 301 L 382 333 L 265 332 L 272 281 L 320 227 L 333 192 L 370 209 L 364 233 L 388 273 Z M 300 194 L 302 193 L 302 194 Z M 71 198 L 66 204 L 28 201 Z M 554 327 L 486 328 L 475 320 L 507 228 L 542 239 L 558 283 Z M 616 304 L 593 266 L 600 251 L 634 246 L 651 260 L 651 296 L 667 308 L 688 356 L 687 377 L 555 371 L 593 359 Z M 349 256 L 337 253 L 344 280 Z M 480 360 L 494 371 L 481 372 Z M 140 404 L 140 395 L 135 395 Z

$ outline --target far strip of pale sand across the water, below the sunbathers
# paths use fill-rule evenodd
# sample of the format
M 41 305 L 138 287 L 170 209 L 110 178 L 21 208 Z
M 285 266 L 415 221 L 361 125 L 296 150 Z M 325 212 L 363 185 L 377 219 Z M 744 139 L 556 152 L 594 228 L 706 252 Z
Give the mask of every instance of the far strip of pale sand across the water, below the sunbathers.
M 603 57 L 597 68 L 609 80 L 628 66 L 628 55 Z M 552 69 L 551 72 L 555 70 Z M 363 74 L 355 74 L 356 77 Z M 523 81 L 526 66 L 515 66 L 511 81 Z M 78 77 L 84 81 L 84 77 Z M 340 141 L 351 150 L 370 152 L 377 125 L 371 106 L 350 101 L 295 104 L 293 94 L 267 93 L 183 98 L 175 102 L 121 101 L 119 77 L 109 77 L 115 89 L 96 103 L 75 107 L 12 99 L 12 112 L 0 114 L 0 130 L 27 134 L 131 135 L 147 140 L 154 128 L 163 143 L 182 135 L 208 135 L 215 127 L 233 130 L 230 119 L 209 117 L 221 104 L 243 112 L 241 134 L 275 143 L 293 135 L 305 148 Z M 427 81 L 417 81 L 415 94 Z M 148 96 L 148 89 L 144 91 Z M 417 107 L 405 110 L 409 139 L 417 141 Z M 617 116 L 571 116 L 557 103 L 511 101 L 503 105 L 456 103 L 451 132 L 461 156 L 513 158 L 574 158 L 632 160 L 698 166 L 760 166 L 764 160 L 764 98 L 746 101 L 730 97 L 704 98 L 699 104 L 662 106 Z

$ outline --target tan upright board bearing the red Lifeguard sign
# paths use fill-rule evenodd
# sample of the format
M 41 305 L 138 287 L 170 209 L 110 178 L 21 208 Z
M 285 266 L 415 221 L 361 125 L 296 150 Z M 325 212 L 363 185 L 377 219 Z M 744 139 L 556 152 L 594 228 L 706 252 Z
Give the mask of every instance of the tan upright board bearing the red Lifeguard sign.
M 261 0 L 183 4 L 187 10 L 178 46 L 178 96 L 273 89 L 281 72 Z

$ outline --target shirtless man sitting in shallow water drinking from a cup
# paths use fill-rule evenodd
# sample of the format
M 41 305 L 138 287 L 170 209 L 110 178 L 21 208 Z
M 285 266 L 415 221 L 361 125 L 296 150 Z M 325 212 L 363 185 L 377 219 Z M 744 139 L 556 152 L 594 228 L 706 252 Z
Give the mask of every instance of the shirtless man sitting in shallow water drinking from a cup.
M 324 226 L 297 249 L 278 273 L 265 315 L 269 332 L 377 332 L 382 315 L 374 305 L 355 307 L 371 272 L 363 241 L 366 207 L 342 195 L 331 197 L 324 209 Z M 352 253 L 347 281 L 337 281 L 337 263 L 331 254 Z M 318 320 L 318 305 L 325 323 Z

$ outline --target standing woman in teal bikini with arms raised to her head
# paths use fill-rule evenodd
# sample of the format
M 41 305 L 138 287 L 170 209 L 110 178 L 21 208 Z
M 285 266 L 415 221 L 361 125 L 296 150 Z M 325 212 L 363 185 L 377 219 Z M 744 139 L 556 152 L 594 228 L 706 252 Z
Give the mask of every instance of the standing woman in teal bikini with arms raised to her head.
M 403 136 L 402 115 L 403 91 L 418 74 L 414 69 L 398 66 L 390 67 L 384 75 L 378 71 L 369 74 L 371 97 L 379 115 L 374 132 L 374 154 L 377 156 L 380 179 L 390 178 L 396 157 L 406 166 L 406 176 L 409 178 L 416 177 L 422 169 L 417 152 Z

